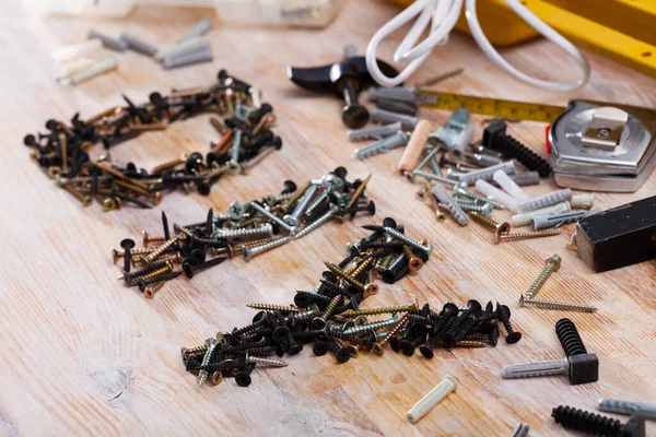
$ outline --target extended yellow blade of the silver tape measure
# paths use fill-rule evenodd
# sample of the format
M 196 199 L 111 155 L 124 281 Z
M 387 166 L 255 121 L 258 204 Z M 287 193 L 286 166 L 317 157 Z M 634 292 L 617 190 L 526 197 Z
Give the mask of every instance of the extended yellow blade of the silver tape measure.
M 476 97 L 465 94 L 419 90 L 424 108 L 456 110 L 467 108 L 472 114 L 482 114 L 511 120 L 542 121 L 551 123 L 567 110 L 563 106 L 542 105 L 501 98 Z

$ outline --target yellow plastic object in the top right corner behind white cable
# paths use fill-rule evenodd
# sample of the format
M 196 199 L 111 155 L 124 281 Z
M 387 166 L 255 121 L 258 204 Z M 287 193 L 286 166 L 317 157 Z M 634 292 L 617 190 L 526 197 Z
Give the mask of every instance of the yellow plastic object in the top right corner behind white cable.
M 391 0 L 401 5 L 412 0 Z M 523 0 L 576 46 L 656 78 L 655 0 Z M 503 2 L 478 0 L 481 27 L 490 42 L 508 46 L 538 36 Z M 460 15 L 456 28 L 469 33 Z

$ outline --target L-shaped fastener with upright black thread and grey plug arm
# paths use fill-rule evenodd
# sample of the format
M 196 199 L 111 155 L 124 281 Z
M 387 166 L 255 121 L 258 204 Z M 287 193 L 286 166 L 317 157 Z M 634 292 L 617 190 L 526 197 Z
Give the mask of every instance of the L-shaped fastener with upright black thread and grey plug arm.
M 599 380 L 599 358 L 597 354 L 587 352 L 574 322 L 570 319 L 559 320 L 555 333 L 565 351 L 565 358 L 505 366 L 503 377 L 530 378 L 566 374 L 572 386 Z

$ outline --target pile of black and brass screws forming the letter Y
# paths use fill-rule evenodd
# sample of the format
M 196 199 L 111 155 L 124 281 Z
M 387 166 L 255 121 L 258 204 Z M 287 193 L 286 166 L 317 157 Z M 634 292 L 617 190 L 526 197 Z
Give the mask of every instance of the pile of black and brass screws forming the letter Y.
M 199 383 L 209 374 L 219 382 L 225 376 L 238 376 L 237 385 L 250 383 L 255 356 L 296 355 L 313 343 L 315 355 L 331 353 L 337 363 L 347 363 L 360 352 L 383 355 L 389 343 L 396 352 L 411 356 L 419 347 L 426 358 L 436 347 L 484 347 L 496 345 L 501 322 L 506 342 L 522 338 L 509 321 L 507 306 L 489 303 L 483 309 L 477 300 L 467 307 L 444 305 L 440 312 L 417 300 L 403 306 L 361 308 L 362 300 L 378 292 L 373 277 L 394 283 L 419 270 L 432 252 L 427 241 L 417 241 L 403 233 L 393 218 L 383 226 L 363 226 L 372 233 L 354 245 L 339 264 L 326 262 L 328 271 L 311 292 L 296 292 L 294 305 L 250 304 L 260 309 L 253 323 L 219 333 L 195 349 L 183 347 L 187 370 L 198 371 Z M 389 315 L 382 320 L 368 316 Z M 278 361 L 274 361 L 278 362 Z M 265 363 L 273 365 L 273 363 Z M 280 364 L 282 366 L 282 364 Z

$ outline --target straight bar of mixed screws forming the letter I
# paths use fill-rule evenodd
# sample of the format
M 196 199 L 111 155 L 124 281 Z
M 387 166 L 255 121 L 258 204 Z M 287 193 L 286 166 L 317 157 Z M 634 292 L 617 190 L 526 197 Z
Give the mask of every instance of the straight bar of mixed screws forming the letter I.
M 134 240 L 124 239 L 120 244 L 122 252 L 112 250 L 114 263 L 122 257 L 120 279 L 127 286 L 139 286 L 145 297 L 152 298 L 166 281 L 183 272 L 191 279 L 237 255 L 249 260 L 301 238 L 333 218 L 352 220 L 361 213 L 373 215 L 376 206 L 365 194 L 371 176 L 353 182 L 345 177 L 347 169 L 338 167 L 301 189 L 288 180 L 279 196 L 234 202 L 224 214 L 214 215 L 210 209 L 203 222 L 184 226 L 174 224 L 173 235 L 166 214 L 162 212 L 162 235 L 144 232 L 144 247 L 139 249 L 134 249 Z M 208 255 L 214 258 L 208 259 Z M 413 268 L 421 261 L 414 258 Z M 180 264 L 181 270 L 175 271 L 175 264 Z M 131 272 L 131 268 L 138 265 L 141 268 Z

